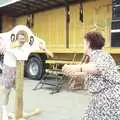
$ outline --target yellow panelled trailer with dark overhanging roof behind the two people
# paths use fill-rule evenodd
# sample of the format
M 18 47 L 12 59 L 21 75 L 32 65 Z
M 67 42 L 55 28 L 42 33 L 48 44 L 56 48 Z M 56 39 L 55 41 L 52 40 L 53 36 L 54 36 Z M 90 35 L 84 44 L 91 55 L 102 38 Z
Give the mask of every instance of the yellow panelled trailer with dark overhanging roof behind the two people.
M 54 53 L 54 63 L 62 65 L 79 62 L 84 53 L 85 33 L 100 31 L 106 39 L 105 49 L 119 65 L 119 13 L 119 0 L 12 0 L 0 6 L 0 30 L 6 32 L 15 25 L 27 25 Z M 40 79 L 43 74 L 36 68 L 45 71 L 45 58 L 41 51 L 32 53 L 27 61 L 32 66 L 29 77 Z

